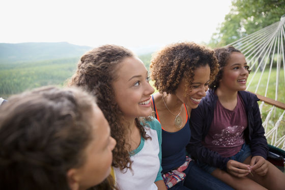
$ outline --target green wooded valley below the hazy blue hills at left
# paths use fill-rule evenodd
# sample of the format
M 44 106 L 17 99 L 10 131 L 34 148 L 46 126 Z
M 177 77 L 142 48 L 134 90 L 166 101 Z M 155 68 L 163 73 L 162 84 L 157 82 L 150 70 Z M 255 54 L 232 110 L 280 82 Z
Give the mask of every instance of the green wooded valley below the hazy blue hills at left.
M 76 70 L 78 58 L 1 64 L 0 97 L 8 98 L 25 90 L 63 86 Z

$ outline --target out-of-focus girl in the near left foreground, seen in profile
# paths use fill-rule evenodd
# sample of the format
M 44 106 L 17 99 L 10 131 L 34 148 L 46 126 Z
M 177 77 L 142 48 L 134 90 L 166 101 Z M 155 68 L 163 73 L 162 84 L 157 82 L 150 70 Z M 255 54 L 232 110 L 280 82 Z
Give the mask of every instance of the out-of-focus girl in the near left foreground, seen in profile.
M 0 188 L 87 189 L 110 174 L 115 144 L 86 92 L 45 87 L 15 95 L 0 107 Z

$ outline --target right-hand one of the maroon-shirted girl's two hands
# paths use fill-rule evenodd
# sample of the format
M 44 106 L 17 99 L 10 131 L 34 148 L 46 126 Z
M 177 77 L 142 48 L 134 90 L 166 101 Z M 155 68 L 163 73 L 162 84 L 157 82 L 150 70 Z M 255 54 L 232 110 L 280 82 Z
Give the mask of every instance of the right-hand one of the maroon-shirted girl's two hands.
M 250 160 L 250 169 L 255 174 L 265 176 L 268 171 L 268 161 L 262 156 L 253 156 Z

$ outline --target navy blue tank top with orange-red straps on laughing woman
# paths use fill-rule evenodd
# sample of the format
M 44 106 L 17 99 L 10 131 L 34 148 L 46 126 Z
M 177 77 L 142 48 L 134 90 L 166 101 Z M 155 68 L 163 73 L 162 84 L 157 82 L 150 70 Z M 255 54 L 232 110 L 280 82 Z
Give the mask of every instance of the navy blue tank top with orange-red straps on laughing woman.
M 155 117 L 160 122 L 153 96 L 152 96 L 152 103 L 155 111 Z M 189 143 L 190 137 L 191 137 L 191 131 L 189 126 L 188 113 L 187 113 L 187 122 L 184 125 L 184 127 L 181 128 L 179 131 L 167 132 L 163 129 L 162 126 L 162 143 L 161 143 L 162 173 L 171 171 L 184 164 L 186 159 L 186 145 Z

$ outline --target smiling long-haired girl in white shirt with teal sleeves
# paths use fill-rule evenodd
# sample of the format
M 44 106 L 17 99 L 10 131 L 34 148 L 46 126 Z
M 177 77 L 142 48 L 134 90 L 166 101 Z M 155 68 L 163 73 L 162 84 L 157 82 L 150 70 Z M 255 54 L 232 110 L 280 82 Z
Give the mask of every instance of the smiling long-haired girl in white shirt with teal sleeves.
M 81 57 L 70 85 L 96 97 L 117 141 L 112 166 L 117 187 L 166 189 L 161 177 L 161 126 L 151 115 L 148 71 L 133 53 L 104 45 Z M 140 118 L 144 117 L 144 118 Z

